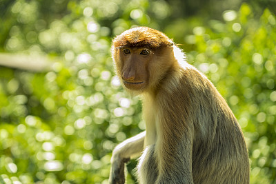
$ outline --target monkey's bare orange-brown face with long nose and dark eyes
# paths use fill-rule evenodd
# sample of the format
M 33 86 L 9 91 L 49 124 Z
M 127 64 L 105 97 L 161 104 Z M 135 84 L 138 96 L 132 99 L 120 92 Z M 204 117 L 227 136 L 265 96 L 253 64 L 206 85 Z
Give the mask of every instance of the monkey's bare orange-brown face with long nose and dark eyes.
M 117 74 L 124 86 L 128 90 L 145 90 L 149 78 L 148 65 L 154 57 L 153 52 L 148 48 L 119 48 L 117 54 Z

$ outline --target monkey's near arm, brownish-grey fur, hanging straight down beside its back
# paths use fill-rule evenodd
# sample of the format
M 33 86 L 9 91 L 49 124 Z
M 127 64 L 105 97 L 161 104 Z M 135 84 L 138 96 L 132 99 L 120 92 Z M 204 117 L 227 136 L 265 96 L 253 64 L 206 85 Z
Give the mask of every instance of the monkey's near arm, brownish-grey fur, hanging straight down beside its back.
M 181 97 L 186 101 L 186 96 Z M 193 183 L 192 153 L 195 130 L 190 112 L 178 102 L 181 97 L 164 95 L 164 101 L 160 105 L 161 133 L 156 144 L 159 174 L 155 184 Z

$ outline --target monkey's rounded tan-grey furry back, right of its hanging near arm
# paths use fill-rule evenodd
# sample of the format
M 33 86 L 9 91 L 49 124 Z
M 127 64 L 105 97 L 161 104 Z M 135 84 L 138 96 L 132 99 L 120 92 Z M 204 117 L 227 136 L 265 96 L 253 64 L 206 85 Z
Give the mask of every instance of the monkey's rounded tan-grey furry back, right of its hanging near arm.
M 181 75 L 171 76 L 180 79 L 170 79 L 168 74 L 159 90 L 163 93 L 160 96 L 166 94 L 163 106 L 170 109 L 164 116 L 181 116 L 183 121 L 188 121 L 185 123 L 193 124 L 186 126 L 194 130 L 194 183 L 249 183 L 250 165 L 244 136 L 224 98 L 192 65 L 187 64 Z M 178 81 L 174 88 L 172 81 Z M 175 114 L 179 112 L 182 114 Z M 181 130 L 181 125 L 175 128 Z

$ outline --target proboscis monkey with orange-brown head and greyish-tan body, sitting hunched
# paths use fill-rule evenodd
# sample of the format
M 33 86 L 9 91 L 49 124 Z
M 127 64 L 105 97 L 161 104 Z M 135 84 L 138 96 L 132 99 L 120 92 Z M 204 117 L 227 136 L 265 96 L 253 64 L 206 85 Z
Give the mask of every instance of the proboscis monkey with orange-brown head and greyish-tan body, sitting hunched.
M 249 183 L 237 119 L 171 39 L 132 28 L 113 40 L 112 58 L 124 88 L 141 96 L 146 131 L 115 147 L 110 183 L 124 183 L 125 163 L 139 155 L 139 183 Z

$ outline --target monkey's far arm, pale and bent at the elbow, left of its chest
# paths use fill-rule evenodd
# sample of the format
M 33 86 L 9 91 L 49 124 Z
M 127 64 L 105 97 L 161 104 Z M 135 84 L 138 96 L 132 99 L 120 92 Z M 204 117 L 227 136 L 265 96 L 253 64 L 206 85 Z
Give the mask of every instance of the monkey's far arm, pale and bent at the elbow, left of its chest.
M 124 167 L 130 159 L 139 156 L 144 150 L 146 131 L 133 136 L 115 147 L 111 157 L 109 182 L 111 184 L 125 183 Z

